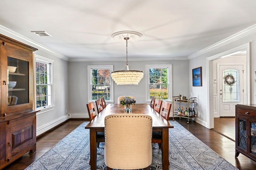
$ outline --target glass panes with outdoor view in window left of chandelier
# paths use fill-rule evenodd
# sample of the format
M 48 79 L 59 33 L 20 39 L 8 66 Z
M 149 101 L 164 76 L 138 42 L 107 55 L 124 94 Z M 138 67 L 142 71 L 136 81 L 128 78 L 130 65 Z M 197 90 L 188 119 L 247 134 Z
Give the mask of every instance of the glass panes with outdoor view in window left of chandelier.
M 91 77 L 91 100 L 97 100 L 102 97 L 105 100 L 110 100 L 110 69 L 92 68 Z

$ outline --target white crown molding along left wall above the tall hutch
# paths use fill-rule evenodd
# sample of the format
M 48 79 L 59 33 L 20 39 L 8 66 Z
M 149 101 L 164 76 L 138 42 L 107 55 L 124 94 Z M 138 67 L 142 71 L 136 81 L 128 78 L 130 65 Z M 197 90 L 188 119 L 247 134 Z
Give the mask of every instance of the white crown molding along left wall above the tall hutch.
M 35 47 L 37 49 L 40 49 L 40 50 L 42 50 L 42 51 L 44 51 L 44 52 L 46 52 L 50 55 L 53 55 L 55 57 L 58 57 L 60 59 L 65 60 L 65 61 L 68 61 L 68 59 L 69 59 L 68 57 L 66 57 L 64 55 L 61 55 L 60 53 L 57 53 L 55 51 L 52 51 L 52 50 L 48 49 L 47 47 L 44 47 L 43 45 L 40 45 L 40 44 L 36 43 L 35 41 L 32 41 L 31 39 L 28 39 L 28 38 L 24 37 L 23 35 L 20 35 L 20 34 L 14 32 L 14 31 L 12 31 L 11 29 L 8 29 L 8 28 L 2 26 L 2 25 L 0 25 L 0 33 L 2 35 L 5 35 L 5 36 L 10 37 L 12 39 L 15 39 L 17 41 L 20 41 L 24 44 L 27 44 L 27 45 L 30 45 L 30 46 Z

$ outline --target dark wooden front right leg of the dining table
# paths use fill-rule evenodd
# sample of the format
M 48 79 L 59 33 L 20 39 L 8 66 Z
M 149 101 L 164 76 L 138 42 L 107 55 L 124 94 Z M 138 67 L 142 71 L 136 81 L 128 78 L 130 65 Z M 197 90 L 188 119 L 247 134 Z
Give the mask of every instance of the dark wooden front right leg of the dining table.
M 162 129 L 162 168 L 169 170 L 169 133 L 168 128 Z

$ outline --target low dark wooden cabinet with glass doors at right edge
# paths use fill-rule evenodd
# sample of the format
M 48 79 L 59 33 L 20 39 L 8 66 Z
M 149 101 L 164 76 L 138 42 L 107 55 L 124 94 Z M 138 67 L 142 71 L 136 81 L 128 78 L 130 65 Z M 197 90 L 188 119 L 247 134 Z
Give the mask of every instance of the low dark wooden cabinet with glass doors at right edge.
M 236 105 L 236 154 L 256 161 L 256 104 Z

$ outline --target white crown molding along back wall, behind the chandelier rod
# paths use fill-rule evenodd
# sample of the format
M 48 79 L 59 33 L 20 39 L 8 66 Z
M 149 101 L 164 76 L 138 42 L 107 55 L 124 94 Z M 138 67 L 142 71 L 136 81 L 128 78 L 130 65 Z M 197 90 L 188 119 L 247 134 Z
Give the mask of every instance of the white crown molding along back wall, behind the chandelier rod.
M 188 60 L 188 57 L 129 57 L 128 61 L 171 61 Z M 126 61 L 124 57 L 111 58 L 69 58 L 70 62 Z

